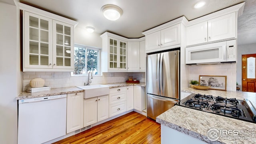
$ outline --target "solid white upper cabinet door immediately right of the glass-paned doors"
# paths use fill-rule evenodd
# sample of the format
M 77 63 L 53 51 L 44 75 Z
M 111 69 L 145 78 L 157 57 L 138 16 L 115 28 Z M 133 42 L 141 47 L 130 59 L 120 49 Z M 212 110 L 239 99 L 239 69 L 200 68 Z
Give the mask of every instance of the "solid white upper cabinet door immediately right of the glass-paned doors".
M 140 70 L 140 42 L 128 42 L 128 70 Z

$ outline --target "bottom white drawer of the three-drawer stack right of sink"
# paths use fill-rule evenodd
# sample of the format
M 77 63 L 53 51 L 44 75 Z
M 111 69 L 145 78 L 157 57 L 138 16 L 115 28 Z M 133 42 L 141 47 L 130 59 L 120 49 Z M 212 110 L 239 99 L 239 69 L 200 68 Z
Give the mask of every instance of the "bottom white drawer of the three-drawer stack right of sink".
M 109 106 L 109 117 L 126 112 L 126 102 L 119 102 Z

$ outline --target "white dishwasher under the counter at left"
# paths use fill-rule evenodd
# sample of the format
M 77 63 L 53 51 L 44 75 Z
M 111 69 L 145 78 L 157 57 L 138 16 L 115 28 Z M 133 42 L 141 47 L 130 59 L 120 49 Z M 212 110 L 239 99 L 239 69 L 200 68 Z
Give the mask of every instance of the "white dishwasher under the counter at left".
M 66 134 L 67 95 L 18 101 L 18 144 L 42 144 Z

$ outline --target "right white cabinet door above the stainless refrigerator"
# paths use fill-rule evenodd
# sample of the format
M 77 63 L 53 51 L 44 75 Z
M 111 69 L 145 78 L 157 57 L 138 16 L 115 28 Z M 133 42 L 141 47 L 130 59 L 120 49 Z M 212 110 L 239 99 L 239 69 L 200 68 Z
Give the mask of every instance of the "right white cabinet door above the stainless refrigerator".
M 161 30 L 161 48 L 180 44 L 180 24 Z

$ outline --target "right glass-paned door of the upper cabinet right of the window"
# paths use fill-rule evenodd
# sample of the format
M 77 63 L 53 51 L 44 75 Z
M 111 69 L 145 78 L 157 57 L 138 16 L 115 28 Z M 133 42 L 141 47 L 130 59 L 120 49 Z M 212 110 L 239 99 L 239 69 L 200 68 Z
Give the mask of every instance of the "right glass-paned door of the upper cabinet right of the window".
M 119 40 L 119 67 L 118 70 L 127 70 L 127 42 Z

